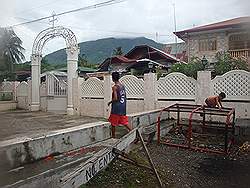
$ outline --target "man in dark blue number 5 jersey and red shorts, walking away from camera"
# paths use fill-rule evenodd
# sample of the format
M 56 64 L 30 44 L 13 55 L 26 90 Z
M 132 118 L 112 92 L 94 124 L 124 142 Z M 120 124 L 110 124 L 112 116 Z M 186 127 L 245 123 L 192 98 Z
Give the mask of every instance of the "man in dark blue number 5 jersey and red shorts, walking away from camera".
M 124 125 L 129 131 L 132 128 L 128 125 L 128 117 L 126 116 L 126 91 L 124 85 L 119 82 L 120 75 L 118 72 L 112 73 L 112 80 L 115 85 L 112 87 L 112 101 L 108 103 L 111 106 L 111 114 L 109 122 L 112 125 L 112 137 L 115 138 L 115 127 Z

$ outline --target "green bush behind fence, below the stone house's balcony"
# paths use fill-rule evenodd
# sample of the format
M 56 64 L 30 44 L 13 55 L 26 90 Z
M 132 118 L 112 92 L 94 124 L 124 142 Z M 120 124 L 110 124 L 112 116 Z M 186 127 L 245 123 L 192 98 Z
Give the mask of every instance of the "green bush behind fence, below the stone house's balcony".
M 228 52 L 218 52 L 216 54 L 216 60 L 217 62 L 214 65 L 216 75 L 222 75 L 235 69 L 249 70 L 246 60 L 232 58 Z

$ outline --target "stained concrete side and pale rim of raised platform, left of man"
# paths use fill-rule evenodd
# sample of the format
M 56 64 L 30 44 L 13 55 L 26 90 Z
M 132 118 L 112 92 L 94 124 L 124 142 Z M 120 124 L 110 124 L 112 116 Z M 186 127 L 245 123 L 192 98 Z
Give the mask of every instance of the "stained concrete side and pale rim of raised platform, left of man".
M 52 154 L 67 152 L 110 138 L 110 123 L 95 122 L 51 131 L 37 138 L 0 142 L 0 168 L 10 169 Z

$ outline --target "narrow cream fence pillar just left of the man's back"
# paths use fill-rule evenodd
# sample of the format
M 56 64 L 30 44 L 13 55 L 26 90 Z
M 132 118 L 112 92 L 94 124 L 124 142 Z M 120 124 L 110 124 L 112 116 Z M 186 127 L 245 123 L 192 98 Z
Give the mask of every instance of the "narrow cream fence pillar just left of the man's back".
M 111 101 L 112 98 L 112 79 L 111 75 L 104 76 L 104 100 L 103 100 L 103 115 L 105 118 L 109 117 L 111 108 L 108 108 L 108 102 Z

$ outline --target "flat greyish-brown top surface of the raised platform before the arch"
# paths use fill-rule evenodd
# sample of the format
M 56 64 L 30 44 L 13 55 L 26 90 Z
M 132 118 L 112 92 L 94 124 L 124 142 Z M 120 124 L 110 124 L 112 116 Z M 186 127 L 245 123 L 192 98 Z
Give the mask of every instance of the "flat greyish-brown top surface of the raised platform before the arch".
M 103 120 L 85 116 L 67 116 L 47 112 L 14 110 L 0 112 L 0 141 L 16 137 L 36 137 L 59 129 Z

